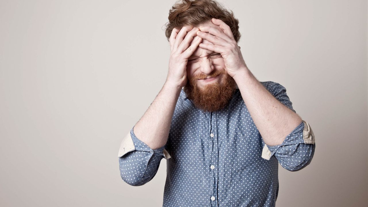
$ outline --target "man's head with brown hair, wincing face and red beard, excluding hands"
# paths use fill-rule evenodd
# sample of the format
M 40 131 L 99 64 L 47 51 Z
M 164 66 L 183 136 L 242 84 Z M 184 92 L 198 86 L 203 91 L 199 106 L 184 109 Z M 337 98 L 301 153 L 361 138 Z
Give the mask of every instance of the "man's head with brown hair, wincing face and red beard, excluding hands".
M 220 30 L 219 26 L 212 23 L 212 18 L 220 19 L 229 25 L 234 39 L 239 41 L 238 20 L 231 11 L 227 11 L 213 0 L 182 0 L 181 3 L 176 3 L 169 13 L 166 36 L 169 39 L 173 28 L 180 29 L 186 25 L 210 26 Z M 202 43 L 212 44 L 205 39 Z M 210 77 L 214 78 L 204 80 Z M 187 78 L 185 94 L 197 108 L 206 111 L 224 108 L 236 89 L 234 79 L 225 70 L 223 57 L 199 47 L 188 59 Z

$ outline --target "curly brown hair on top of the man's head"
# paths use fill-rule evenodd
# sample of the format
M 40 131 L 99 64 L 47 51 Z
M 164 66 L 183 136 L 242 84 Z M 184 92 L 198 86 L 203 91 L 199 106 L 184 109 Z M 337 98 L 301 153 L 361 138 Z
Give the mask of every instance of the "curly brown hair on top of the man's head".
M 214 0 L 181 0 L 177 1 L 169 11 L 169 22 L 167 22 L 165 35 L 169 41 L 174 28 L 182 28 L 185 25 L 198 27 L 200 24 L 211 20 L 220 19 L 229 25 L 236 42 L 240 40 L 239 21 L 234 17 L 231 10 Z

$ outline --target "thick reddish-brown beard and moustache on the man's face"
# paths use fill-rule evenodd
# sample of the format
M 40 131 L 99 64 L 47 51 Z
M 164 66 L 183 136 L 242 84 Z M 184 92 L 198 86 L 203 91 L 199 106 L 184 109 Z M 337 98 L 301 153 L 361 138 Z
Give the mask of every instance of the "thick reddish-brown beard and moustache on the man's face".
M 184 92 L 187 98 L 192 101 L 194 106 L 204 111 L 213 112 L 224 108 L 230 101 L 236 89 L 236 83 L 233 77 L 223 71 L 213 71 L 209 77 L 216 77 L 222 74 L 222 79 L 219 83 L 205 84 L 203 88 L 198 87 L 198 79 L 206 76 L 200 75 L 192 77 L 184 86 Z M 219 77 L 218 77 L 219 78 Z M 222 83 L 221 83 L 222 82 Z

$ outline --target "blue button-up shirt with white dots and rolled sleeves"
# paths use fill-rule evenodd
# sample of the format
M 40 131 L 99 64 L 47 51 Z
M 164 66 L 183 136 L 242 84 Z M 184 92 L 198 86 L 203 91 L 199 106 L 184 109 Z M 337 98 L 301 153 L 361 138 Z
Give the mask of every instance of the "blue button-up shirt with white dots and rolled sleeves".
M 290 110 L 286 88 L 260 82 Z M 166 159 L 163 207 L 275 206 L 278 163 L 298 171 L 314 155 L 314 133 L 302 122 L 282 144 L 266 145 L 237 88 L 221 110 L 204 112 L 186 97 L 176 103 L 165 146 L 152 150 L 135 136 L 134 127 L 119 149 L 121 178 L 132 186 L 149 182 Z

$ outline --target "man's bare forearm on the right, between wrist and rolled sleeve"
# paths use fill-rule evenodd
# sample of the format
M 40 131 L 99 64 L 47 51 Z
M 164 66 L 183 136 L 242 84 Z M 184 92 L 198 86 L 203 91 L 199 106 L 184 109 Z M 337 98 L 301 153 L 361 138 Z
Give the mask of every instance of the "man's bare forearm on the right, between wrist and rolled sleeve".
M 233 78 L 255 126 L 267 145 L 281 144 L 302 122 L 299 115 L 273 97 L 247 68 Z

